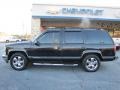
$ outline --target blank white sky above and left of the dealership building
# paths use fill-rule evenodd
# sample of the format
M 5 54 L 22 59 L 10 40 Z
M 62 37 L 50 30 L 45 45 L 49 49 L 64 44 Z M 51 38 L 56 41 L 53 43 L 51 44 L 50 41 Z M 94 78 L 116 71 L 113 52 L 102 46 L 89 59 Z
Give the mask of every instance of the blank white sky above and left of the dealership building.
M 30 33 L 32 3 L 120 7 L 119 0 L 0 0 L 0 32 Z

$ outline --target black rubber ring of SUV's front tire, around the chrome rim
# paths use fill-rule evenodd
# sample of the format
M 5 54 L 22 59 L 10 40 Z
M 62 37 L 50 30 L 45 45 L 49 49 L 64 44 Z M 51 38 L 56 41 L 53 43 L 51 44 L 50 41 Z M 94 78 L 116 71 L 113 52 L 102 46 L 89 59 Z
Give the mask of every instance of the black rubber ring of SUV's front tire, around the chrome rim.
M 20 56 L 20 57 L 22 57 L 22 58 L 24 59 L 24 66 L 23 66 L 22 68 L 19 68 L 19 69 L 18 69 L 18 68 L 15 68 L 15 67 L 14 67 L 14 65 L 13 65 L 13 58 L 14 58 L 15 56 Z M 11 56 L 11 58 L 10 58 L 10 65 L 11 65 L 11 67 L 12 67 L 14 70 L 17 70 L 17 71 L 24 70 L 24 69 L 27 67 L 27 63 L 28 63 L 27 58 L 26 58 L 26 56 L 23 55 L 22 53 L 15 53 L 15 54 L 13 54 L 13 55 Z

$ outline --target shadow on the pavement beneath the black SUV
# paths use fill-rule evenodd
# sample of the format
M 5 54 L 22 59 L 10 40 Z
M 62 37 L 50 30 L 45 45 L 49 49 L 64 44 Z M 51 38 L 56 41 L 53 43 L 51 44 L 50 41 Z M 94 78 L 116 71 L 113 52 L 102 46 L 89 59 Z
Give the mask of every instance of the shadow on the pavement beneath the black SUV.
M 105 72 L 107 71 L 105 65 L 101 65 L 97 72 Z M 43 72 L 86 72 L 81 65 L 31 65 L 28 66 L 27 70 L 29 71 L 43 71 Z M 89 72 L 86 72 L 89 73 Z

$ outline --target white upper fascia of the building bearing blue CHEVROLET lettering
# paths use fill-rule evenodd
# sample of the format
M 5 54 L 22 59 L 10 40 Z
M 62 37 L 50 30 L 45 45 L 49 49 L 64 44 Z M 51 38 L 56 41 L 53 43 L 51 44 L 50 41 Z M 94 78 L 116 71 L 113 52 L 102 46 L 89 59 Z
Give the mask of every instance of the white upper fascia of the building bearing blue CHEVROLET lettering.
M 33 4 L 32 16 L 41 18 L 92 18 L 120 21 L 120 8 Z

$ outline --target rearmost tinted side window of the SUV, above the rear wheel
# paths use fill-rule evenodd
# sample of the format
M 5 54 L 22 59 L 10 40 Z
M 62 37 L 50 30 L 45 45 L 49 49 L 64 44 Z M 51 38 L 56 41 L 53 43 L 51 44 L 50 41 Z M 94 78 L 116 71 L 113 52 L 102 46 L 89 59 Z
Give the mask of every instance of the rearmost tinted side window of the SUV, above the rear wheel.
M 105 31 L 86 31 L 87 44 L 113 44 L 109 34 Z

